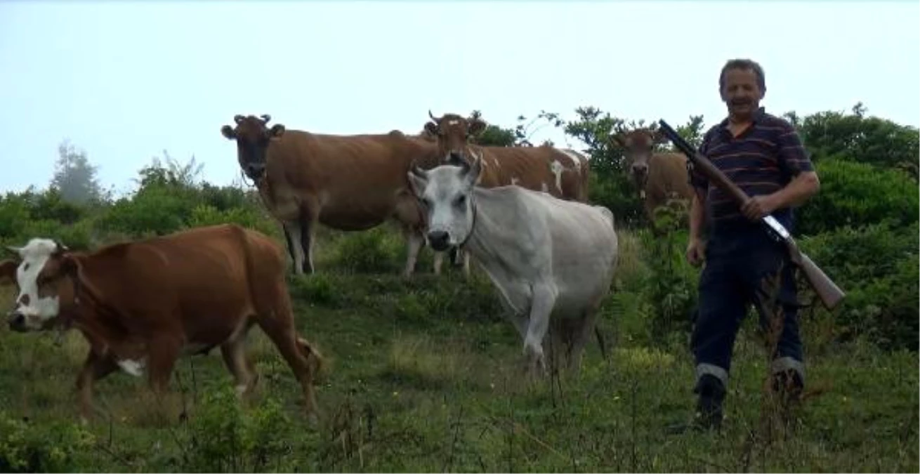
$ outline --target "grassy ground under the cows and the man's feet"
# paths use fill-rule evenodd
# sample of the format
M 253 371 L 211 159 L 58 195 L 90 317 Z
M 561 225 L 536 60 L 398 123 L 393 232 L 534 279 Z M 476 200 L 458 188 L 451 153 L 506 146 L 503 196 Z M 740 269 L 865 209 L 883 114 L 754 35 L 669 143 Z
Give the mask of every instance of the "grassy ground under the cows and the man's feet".
M 619 291 L 601 318 L 614 346 L 609 360 L 592 341 L 580 376 L 528 384 L 520 376 L 522 343 L 500 319 L 481 273 L 471 282 L 455 270 L 435 278 L 425 251 L 419 273 L 403 280 L 402 240 L 388 229 L 374 232 L 323 240 L 319 273 L 291 279 L 298 327 L 330 359 L 317 384 L 324 411 L 318 426 L 298 411 L 293 376 L 258 329 L 250 354 L 261 380 L 250 403 L 233 402 L 231 378 L 215 352 L 178 364 L 168 403 L 174 411 L 187 407 L 188 422 L 158 419 L 144 379 L 117 373 L 97 385 L 96 401 L 109 418 L 81 428 L 73 385 L 86 343 L 73 332 L 58 346 L 51 334 L 3 328 L 0 429 L 7 434 L 0 431 L 0 459 L 34 462 L 46 453 L 60 466 L 72 462 L 72 471 L 131 473 L 917 467 L 915 354 L 834 344 L 824 336 L 827 321 L 806 321 L 808 383 L 816 394 L 792 430 L 765 437 L 765 353 L 749 319 L 735 347 L 723 432 L 668 434 L 692 412 L 693 367 L 685 334 L 658 344 L 638 335 L 647 321 L 634 282 L 648 269 L 636 235 L 622 235 Z M 7 292 L 0 305 L 10 304 Z M 14 438 L 31 454 L 11 455 Z

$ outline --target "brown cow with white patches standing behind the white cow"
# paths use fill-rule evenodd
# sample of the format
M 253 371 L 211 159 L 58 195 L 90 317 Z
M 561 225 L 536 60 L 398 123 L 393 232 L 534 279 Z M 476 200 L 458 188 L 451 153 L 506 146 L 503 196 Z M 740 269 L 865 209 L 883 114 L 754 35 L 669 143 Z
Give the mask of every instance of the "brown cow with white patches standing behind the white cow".
M 588 158 L 567 148 L 553 146 L 480 146 L 471 139 L 486 130 L 485 121 L 468 119 L 455 113 L 440 118 L 428 111 L 431 121 L 424 130 L 437 138 L 440 164 L 472 163 L 481 156 L 482 171 L 478 186 L 494 188 L 517 185 L 533 191 L 577 202 L 588 202 L 590 166 Z M 469 273 L 469 258 L 464 255 L 464 272 Z

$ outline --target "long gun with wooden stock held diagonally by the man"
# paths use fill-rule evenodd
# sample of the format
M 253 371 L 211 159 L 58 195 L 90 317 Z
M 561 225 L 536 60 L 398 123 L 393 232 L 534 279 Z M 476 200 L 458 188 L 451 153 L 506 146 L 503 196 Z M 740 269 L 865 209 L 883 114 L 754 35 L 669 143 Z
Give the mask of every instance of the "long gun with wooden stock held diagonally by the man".
M 661 133 L 664 133 L 664 135 L 668 137 L 668 140 L 687 156 L 693 163 L 694 168 L 702 171 L 702 173 L 722 191 L 728 192 L 739 206 L 751 199 L 747 193 L 742 191 L 735 183 L 731 182 L 719 168 L 716 168 L 706 156 L 696 151 L 696 149 L 688 144 L 681 135 L 677 134 L 667 122 L 663 120 L 658 122 L 661 125 Z M 795 239 L 789 234 L 788 229 L 782 224 L 779 224 L 776 217 L 772 215 L 765 215 L 761 218 L 761 223 L 766 227 L 767 233 L 770 234 L 774 240 L 786 245 L 789 252 L 789 260 L 805 273 L 805 278 L 808 280 L 809 284 L 811 284 L 811 288 L 814 289 L 814 292 L 821 298 L 824 307 L 828 310 L 833 310 L 834 307 L 839 305 L 845 296 L 843 290 L 834 284 L 834 281 L 828 278 L 827 275 L 822 272 L 821 268 L 799 249 Z

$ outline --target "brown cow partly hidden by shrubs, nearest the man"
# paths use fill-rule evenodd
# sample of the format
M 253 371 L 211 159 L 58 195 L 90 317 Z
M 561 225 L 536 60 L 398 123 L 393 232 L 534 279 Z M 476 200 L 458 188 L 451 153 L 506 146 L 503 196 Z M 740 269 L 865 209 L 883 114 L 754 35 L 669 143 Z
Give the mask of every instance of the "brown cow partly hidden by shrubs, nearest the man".
M 669 199 L 689 201 L 693 197 L 687 174 L 687 158 L 682 153 L 655 153 L 655 145 L 667 142 L 658 129 L 639 128 L 611 133 L 610 141 L 626 149 L 627 173 L 643 200 L 645 213 L 654 225 L 654 211 Z

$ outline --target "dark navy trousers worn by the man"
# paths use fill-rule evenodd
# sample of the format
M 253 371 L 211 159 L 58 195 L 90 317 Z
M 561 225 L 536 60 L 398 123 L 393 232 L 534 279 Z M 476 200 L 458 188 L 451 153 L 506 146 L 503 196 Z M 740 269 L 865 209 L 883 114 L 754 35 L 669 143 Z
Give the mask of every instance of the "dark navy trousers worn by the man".
M 781 265 L 778 300 L 773 300 L 773 295 L 764 294 L 760 289 L 764 288 L 764 279 L 775 277 Z M 778 373 L 792 369 L 805 379 L 798 295 L 786 249 L 772 240 L 763 228 L 738 225 L 715 229 L 707 242 L 706 264 L 700 275 L 699 305 L 690 342 L 697 380 L 711 375 L 723 384 L 728 383 L 735 336 L 752 304 L 760 315 L 762 328 L 767 331 L 772 314 L 765 313 L 775 312 L 776 305 L 783 307 L 786 317 L 772 370 Z

